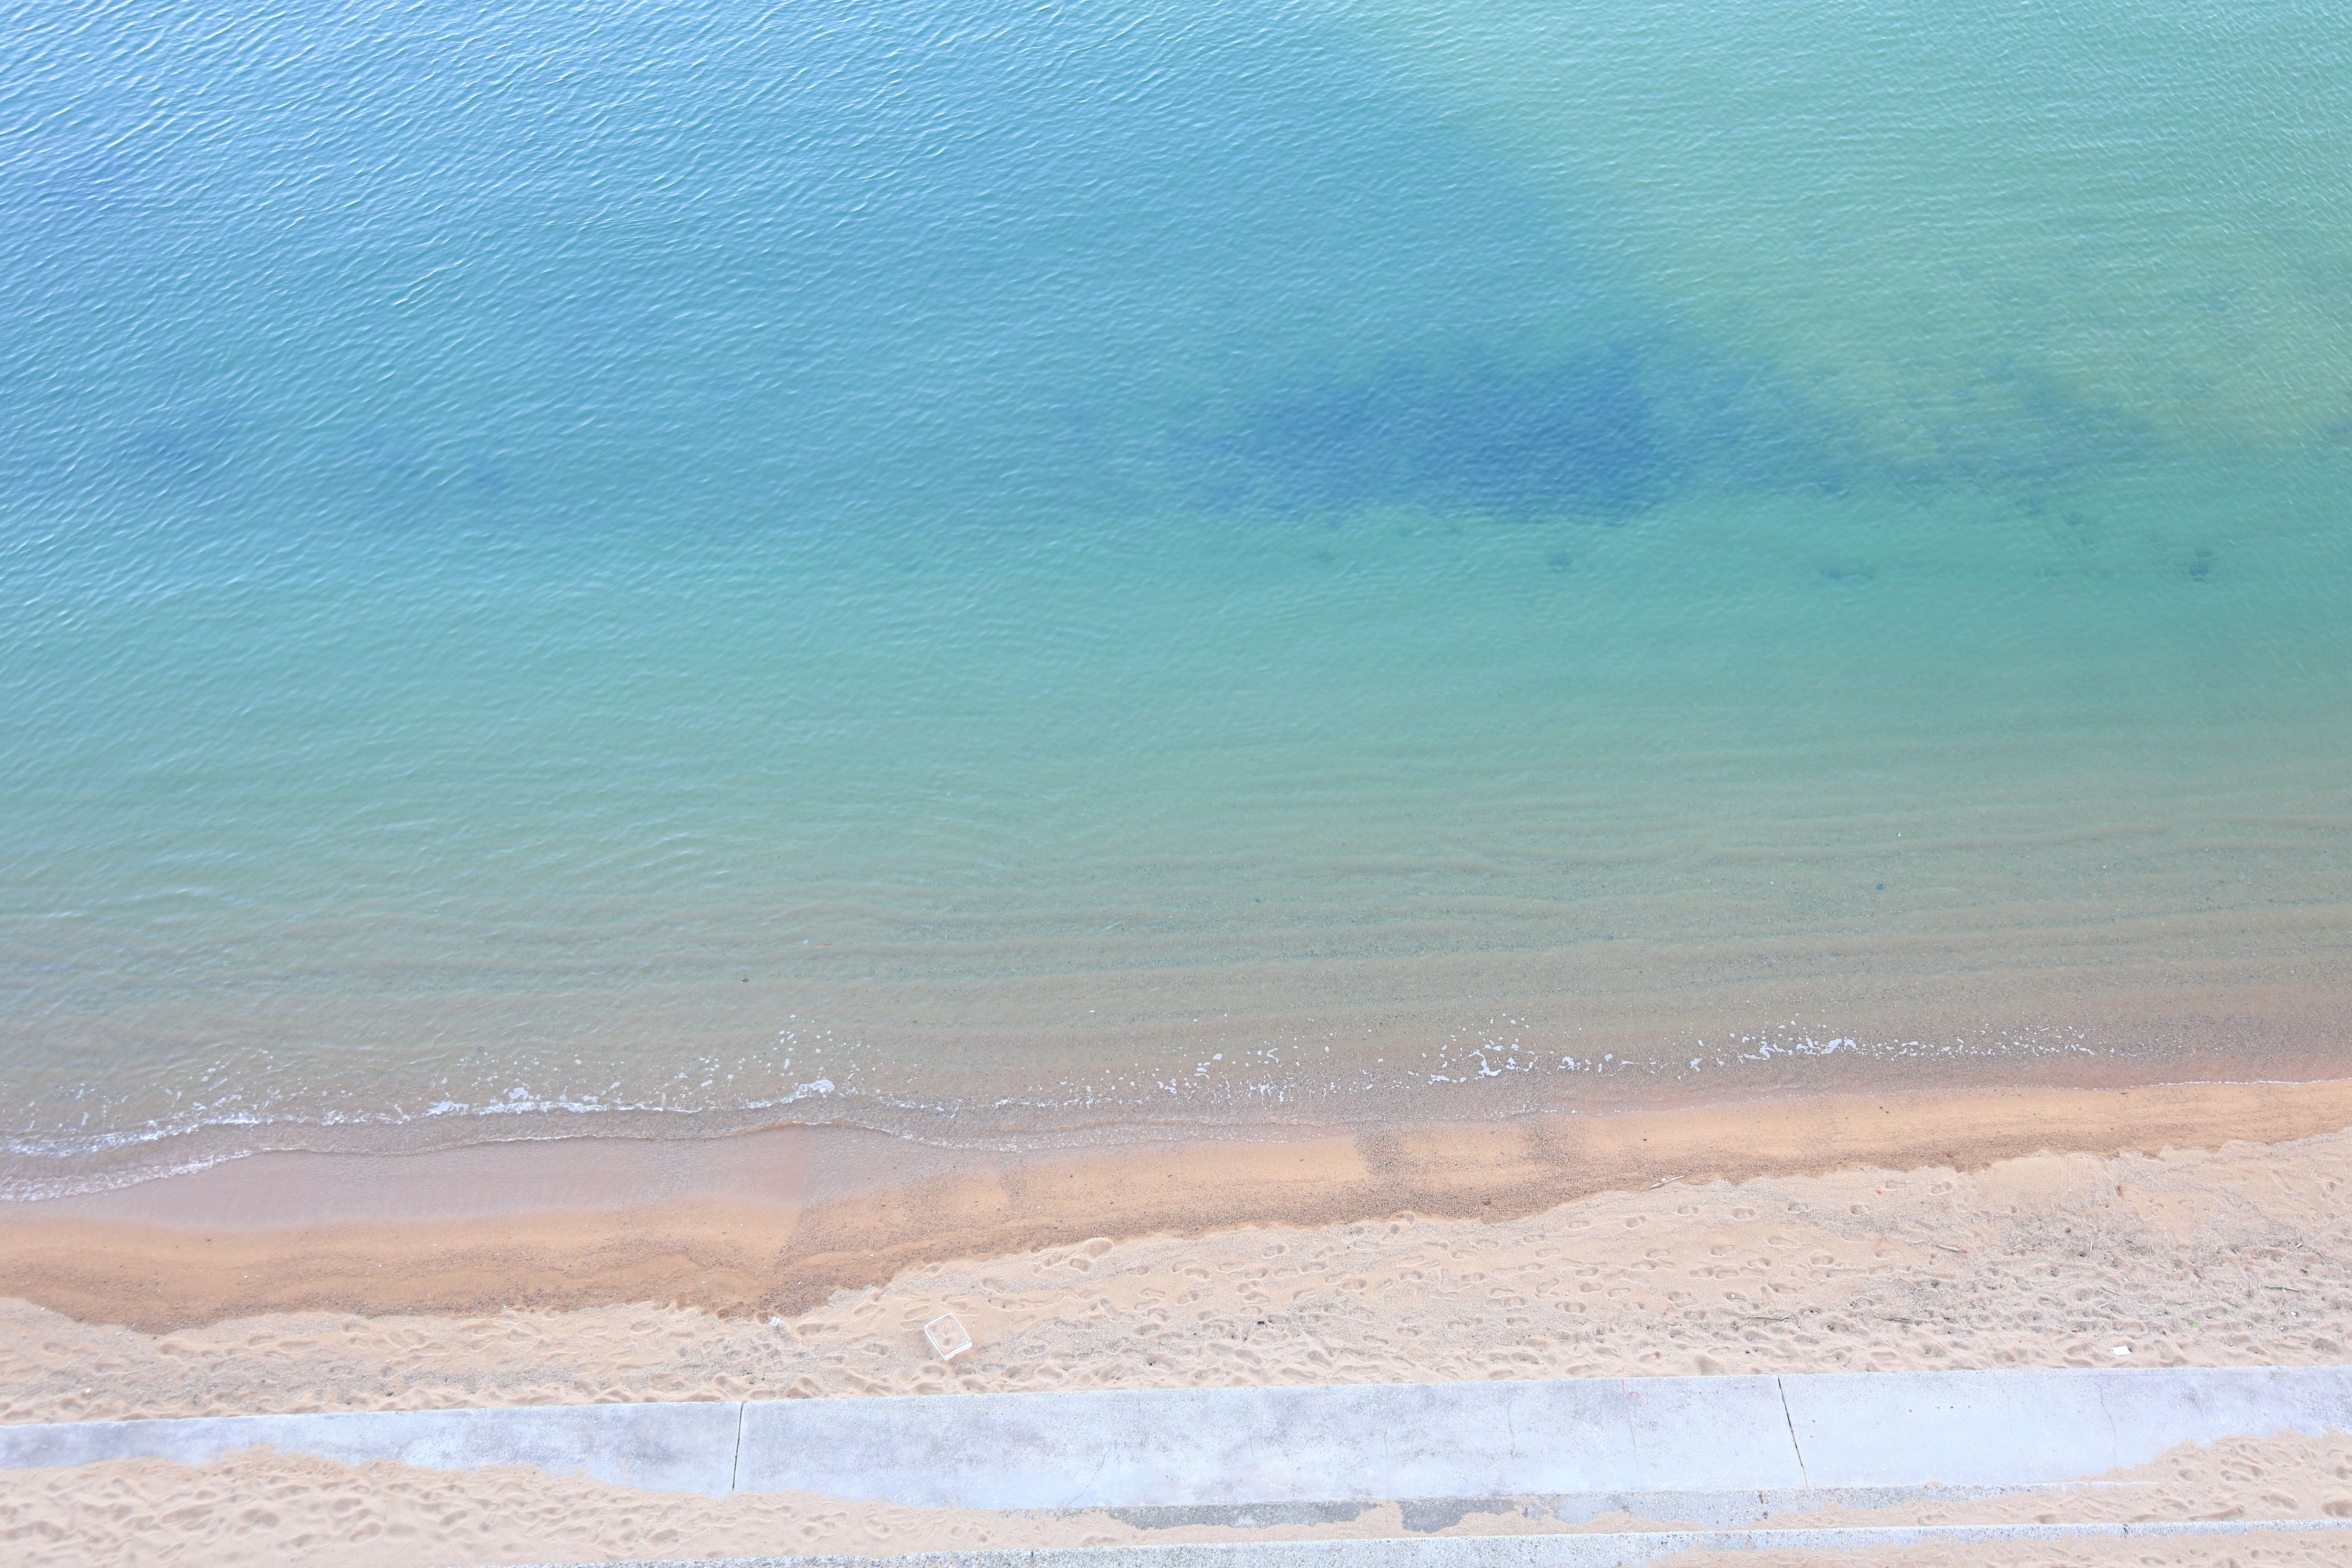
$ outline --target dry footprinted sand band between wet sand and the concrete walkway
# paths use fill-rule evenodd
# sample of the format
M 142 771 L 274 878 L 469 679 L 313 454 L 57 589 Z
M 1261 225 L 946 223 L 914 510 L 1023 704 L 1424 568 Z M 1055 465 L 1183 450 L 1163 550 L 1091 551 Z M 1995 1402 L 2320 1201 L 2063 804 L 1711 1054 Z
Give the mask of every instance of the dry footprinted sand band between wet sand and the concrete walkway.
M 89 1420 L 1726 1371 L 2352 1359 L 2352 1133 L 1976 1173 L 1668 1182 L 920 1265 L 795 1319 L 280 1314 L 151 1335 L 0 1307 L 0 1418 Z M 955 1312 L 953 1368 L 922 1324 Z M 2117 1347 L 2129 1356 L 2117 1356 Z

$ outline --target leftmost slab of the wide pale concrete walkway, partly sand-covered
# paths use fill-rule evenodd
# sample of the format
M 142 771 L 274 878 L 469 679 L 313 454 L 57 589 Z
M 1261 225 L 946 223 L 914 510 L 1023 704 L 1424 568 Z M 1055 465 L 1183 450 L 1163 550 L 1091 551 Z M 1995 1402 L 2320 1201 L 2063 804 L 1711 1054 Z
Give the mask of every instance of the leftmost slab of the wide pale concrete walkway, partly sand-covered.
M 739 1403 L 696 1401 L 0 1425 L 0 1467 L 129 1458 L 209 1465 L 226 1453 L 268 1443 L 280 1453 L 346 1465 L 536 1465 L 557 1476 L 581 1474 L 659 1493 L 724 1497 L 734 1486 L 741 1410 Z

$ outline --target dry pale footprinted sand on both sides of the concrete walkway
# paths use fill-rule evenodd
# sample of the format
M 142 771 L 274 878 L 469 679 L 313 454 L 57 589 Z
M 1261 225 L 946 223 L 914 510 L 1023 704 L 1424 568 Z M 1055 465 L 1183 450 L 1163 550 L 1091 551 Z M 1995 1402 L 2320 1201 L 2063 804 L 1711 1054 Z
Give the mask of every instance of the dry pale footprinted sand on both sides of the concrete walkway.
M 1696 1147 L 1719 1154 L 1722 1138 L 1710 1131 Z M 1517 1166 L 1501 1161 L 1519 1154 L 1496 1150 L 1498 1168 L 1512 1173 Z M 1461 1164 L 1461 1192 L 1477 1192 L 1477 1168 Z M 1585 1192 L 1550 1206 L 1470 1197 L 1449 1218 L 1258 1222 L 917 1260 L 887 1284 L 837 1291 L 790 1316 L 609 1302 L 572 1312 L 249 1314 L 146 1333 L 7 1302 L 0 1418 L 2336 1363 L 2347 1359 L 2352 1333 L 2347 1173 L 2352 1131 L 2157 1154 L 2025 1154 L 1966 1171 L 1905 1161 L 1740 1182 L 1668 1173 L 1639 1192 Z M 1073 1192 L 1070 1201 L 1091 1199 Z M 978 1340 L 953 1368 L 934 1361 L 920 1335 L 943 1309 L 957 1312 Z M 2131 1354 L 2117 1356 L 2117 1347 Z M 2140 1486 L 2070 1493 L 2058 1505 L 2025 1497 L 1806 1523 L 2343 1516 L 2352 1514 L 2347 1443 L 2232 1441 L 2147 1467 L 2133 1476 Z M 1548 1528 L 1559 1526 L 1541 1512 L 1456 1526 Z M 1348 1526 L 1272 1535 L 1399 1530 L 1397 1509 L 1378 1507 Z M 0 1561 L 12 1563 L 454 1568 L 1232 1537 L 1143 1535 L 1108 1516 L 993 1516 L 804 1495 L 710 1502 L 529 1469 L 353 1469 L 273 1453 L 205 1469 L 120 1462 L 0 1474 Z M 1684 1561 L 1717 1559 L 1743 1568 L 1797 1561 Z M 1839 1561 L 2352 1563 L 2352 1537 L 1912 1547 Z

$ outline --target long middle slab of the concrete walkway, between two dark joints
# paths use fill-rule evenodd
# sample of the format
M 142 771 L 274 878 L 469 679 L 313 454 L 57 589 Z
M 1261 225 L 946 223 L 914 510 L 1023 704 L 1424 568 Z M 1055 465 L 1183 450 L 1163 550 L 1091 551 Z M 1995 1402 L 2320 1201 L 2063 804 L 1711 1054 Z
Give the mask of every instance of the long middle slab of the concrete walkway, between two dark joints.
M 739 1490 L 1049 1509 L 1804 1486 L 1771 1378 L 783 1399 Z

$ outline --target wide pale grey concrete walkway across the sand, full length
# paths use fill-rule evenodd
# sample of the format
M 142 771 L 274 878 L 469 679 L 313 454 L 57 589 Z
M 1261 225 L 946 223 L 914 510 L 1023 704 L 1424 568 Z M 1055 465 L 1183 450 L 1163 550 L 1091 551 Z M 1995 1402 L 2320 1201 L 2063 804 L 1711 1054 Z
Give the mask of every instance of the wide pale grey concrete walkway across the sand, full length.
M 539 1465 L 652 1490 L 971 1509 L 2018 1488 L 2183 1441 L 2352 1432 L 2352 1368 L 1628 1378 L 515 1406 L 0 1427 L 0 1467 Z M 1736 1516 L 1724 1519 L 1733 1523 Z

